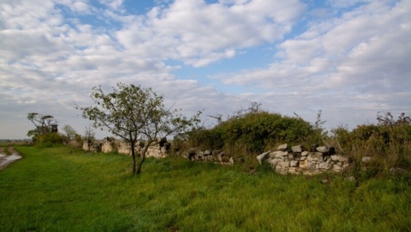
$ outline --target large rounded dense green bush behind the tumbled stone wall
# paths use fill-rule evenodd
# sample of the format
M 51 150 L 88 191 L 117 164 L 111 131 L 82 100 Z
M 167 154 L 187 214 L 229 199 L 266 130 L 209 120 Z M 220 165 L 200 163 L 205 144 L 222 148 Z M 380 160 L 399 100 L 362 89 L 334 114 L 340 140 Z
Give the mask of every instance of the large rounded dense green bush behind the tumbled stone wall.
M 300 117 L 266 111 L 250 111 L 219 122 L 213 128 L 199 128 L 177 139 L 175 144 L 188 149 L 222 149 L 234 157 L 251 157 L 280 143 L 318 143 L 321 129 L 314 129 Z M 184 142 L 185 141 L 185 142 Z

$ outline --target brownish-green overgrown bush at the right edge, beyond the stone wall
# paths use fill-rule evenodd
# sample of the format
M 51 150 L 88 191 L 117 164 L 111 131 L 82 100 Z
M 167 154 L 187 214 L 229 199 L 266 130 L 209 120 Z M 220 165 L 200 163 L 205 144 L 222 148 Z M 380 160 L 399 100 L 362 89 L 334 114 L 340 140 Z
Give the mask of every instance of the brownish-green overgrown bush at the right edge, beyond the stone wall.
M 351 131 L 347 127 L 338 127 L 328 138 L 341 153 L 354 158 L 351 171 L 358 177 L 370 173 L 387 173 L 391 167 L 411 168 L 411 121 L 401 113 L 394 120 L 391 113 L 377 115 L 376 124 L 358 125 Z M 372 162 L 363 164 L 363 157 L 372 157 Z M 372 170 L 372 171 L 370 171 Z M 364 174 L 366 172 L 366 174 Z

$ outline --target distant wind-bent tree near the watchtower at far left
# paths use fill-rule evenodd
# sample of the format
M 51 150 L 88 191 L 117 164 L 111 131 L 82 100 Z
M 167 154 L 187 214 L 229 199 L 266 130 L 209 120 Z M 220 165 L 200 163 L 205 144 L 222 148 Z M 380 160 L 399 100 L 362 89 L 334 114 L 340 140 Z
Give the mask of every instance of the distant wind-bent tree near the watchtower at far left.
M 35 126 L 27 132 L 28 137 L 35 138 L 40 134 L 48 134 L 51 132 L 51 125 L 57 124 L 57 120 L 51 115 L 43 115 L 39 113 L 28 113 L 27 119 L 32 122 Z

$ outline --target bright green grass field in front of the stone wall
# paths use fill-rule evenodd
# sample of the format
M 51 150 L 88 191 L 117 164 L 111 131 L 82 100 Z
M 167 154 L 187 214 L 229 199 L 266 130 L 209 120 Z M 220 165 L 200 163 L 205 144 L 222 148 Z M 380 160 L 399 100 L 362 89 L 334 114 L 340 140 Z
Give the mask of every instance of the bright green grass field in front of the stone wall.
M 330 176 L 257 175 L 238 167 L 65 147 L 17 147 L 0 171 L 0 231 L 409 231 L 409 177 L 360 185 Z

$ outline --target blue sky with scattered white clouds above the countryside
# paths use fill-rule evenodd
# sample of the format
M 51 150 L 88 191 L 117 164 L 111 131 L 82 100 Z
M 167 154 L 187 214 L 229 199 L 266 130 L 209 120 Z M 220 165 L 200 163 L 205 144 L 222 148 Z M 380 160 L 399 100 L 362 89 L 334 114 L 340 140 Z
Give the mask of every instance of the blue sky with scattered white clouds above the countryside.
M 29 112 L 83 134 L 74 104 L 118 82 L 207 126 L 251 102 L 327 129 L 409 115 L 411 1 L 0 0 L 0 139 Z

